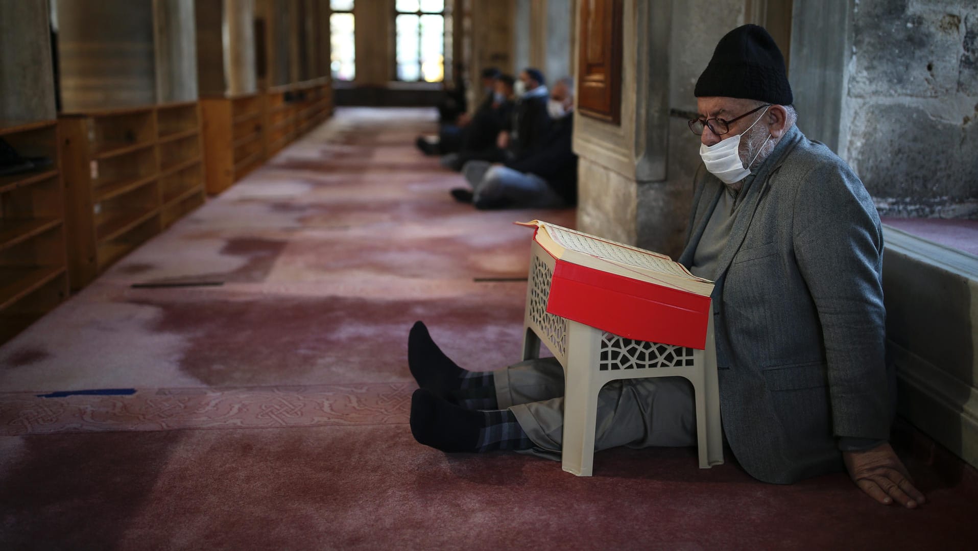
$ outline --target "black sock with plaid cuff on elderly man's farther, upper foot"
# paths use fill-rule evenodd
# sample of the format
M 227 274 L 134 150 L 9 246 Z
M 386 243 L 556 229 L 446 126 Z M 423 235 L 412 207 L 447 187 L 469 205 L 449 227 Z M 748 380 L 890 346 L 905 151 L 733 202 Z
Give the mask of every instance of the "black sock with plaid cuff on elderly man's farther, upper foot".
M 415 322 L 408 336 L 408 367 L 418 386 L 465 409 L 496 409 L 492 373 L 467 371 L 431 340 L 427 327 Z

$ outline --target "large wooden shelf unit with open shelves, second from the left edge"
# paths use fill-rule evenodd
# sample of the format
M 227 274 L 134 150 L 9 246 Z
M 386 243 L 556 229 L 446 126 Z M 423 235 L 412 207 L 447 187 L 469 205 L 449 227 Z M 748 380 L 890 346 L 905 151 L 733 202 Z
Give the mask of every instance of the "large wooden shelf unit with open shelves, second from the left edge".
M 203 204 L 200 107 L 72 113 L 59 126 L 77 290 Z

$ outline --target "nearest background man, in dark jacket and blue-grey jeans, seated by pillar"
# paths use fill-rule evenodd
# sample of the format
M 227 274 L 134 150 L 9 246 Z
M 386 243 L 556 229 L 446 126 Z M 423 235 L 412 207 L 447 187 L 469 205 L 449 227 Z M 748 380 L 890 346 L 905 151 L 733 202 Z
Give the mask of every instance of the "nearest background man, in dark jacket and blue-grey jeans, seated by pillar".
M 559 208 L 577 203 L 577 156 L 571 149 L 574 130 L 573 82 L 562 78 L 547 104 L 550 130 L 535 151 L 505 164 L 469 161 L 464 169 L 473 191 L 452 190 L 457 201 L 476 208 Z

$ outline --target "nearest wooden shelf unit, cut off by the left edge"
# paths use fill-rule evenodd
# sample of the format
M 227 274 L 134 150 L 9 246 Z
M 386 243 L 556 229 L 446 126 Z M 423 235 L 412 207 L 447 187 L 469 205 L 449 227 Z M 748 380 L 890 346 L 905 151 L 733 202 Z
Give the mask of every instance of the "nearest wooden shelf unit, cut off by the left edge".
M 0 139 L 50 163 L 0 176 L 0 343 L 67 298 L 65 191 L 56 120 L 0 121 Z

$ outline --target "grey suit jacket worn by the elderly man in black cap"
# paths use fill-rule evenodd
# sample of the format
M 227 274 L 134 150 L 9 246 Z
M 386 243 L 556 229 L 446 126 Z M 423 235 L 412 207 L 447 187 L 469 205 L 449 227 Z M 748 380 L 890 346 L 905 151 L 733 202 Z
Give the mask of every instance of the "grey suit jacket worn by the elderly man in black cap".
M 689 266 L 723 184 L 700 170 Z M 879 216 L 856 174 L 797 127 L 745 192 L 713 315 L 724 433 L 751 476 L 842 469 L 838 438 L 887 439 Z

